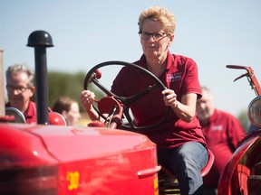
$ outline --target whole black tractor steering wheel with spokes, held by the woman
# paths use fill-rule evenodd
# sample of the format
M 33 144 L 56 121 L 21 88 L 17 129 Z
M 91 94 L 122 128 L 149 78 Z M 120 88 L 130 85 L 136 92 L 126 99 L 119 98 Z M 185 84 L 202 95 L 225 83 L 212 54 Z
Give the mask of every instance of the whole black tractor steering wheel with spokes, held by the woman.
M 141 73 L 145 74 L 146 76 L 149 76 L 150 79 L 152 79 L 155 84 L 148 86 L 148 88 L 144 88 L 144 90 L 140 91 L 139 93 L 135 94 L 134 96 L 131 97 L 119 97 L 113 93 L 111 93 L 110 90 L 108 90 L 107 88 L 103 87 L 101 83 L 99 83 L 98 79 L 101 78 L 102 73 L 99 72 L 100 68 L 105 67 L 105 66 L 111 66 L 111 65 L 121 65 L 121 66 L 126 66 L 126 67 L 131 67 L 133 69 L 139 70 Z M 153 128 L 159 127 L 160 125 L 163 124 L 163 122 L 165 122 L 165 120 L 167 119 L 167 117 L 169 116 L 169 110 L 170 107 L 168 107 L 165 111 L 165 114 L 159 119 L 158 122 L 152 124 L 152 125 L 144 125 L 144 126 L 137 126 L 134 125 L 133 123 L 133 116 L 131 116 L 131 105 L 134 104 L 136 101 L 138 101 L 140 98 L 142 98 L 143 96 L 147 95 L 148 93 L 150 93 L 150 91 L 154 90 L 155 88 L 161 88 L 162 90 L 166 89 L 166 87 L 164 86 L 164 84 L 160 81 L 160 79 L 158 79 L 155 75 L 153 75 L 149 70 L 146 70 L 136 64 L 133 63 L 128 63 L 125 61 L 105 61 L 102 62 L 96 66 L 94 66 L 86 75 L 85 79 L 84 79 L 84 84 L 83 84 L 83 88 L 86 90 L 88 88 L 88 84 L 89 83 L 93 83 L 97 88 L 100 88 L 108 97 L 111 97 L 111 101 L 116 101 L 114 104 L 110 105 L 114 105 L 115 107 L 117 107 L 117 109 L 119 109 L 119 105 L 122 105 L 123 107 L 123 116 L 125 116 L 125 118 L 128 121 L 128 124 L 121 124 L 121 126 L 118 126 L 118 128 L 123 128 L 126 130 L 130 130 L 130 131 L 148 131 L 151 130 Z M 107 97 L 107 98 L 108 98 Z M 98 107 L 99 107 L 99 101 L 97 101 L 98 103 Z M 96 112 L 98 113 L 98 115 L 100 117 L 102 117 L 103 119 L 106 120 L 106 116 L 103 116 L 101 111 L 99 111 L 99 109 L 97 107 L 95 107 L 94 105 L 92 105 L 94 107 L 94 109 L 96 110 Z M 104 106 L 104 104 L 103 104 Z M 113 107 L 111 108 L 113 109 Z M 111 114 L 113 115 L 113 113 Z

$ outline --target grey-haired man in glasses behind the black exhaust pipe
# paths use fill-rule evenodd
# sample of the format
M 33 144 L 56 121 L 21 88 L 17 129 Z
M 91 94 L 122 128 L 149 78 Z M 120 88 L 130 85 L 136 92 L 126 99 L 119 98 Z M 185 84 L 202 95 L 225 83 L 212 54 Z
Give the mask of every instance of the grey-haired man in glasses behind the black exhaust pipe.
M 5 107 L 15 107 L 25 117 L 27 124 L 37 123 L 36 105 L 30 99 L 34 96 L 34 72 L 23 64 L 10 66 L 6 72 L 8 102 Z

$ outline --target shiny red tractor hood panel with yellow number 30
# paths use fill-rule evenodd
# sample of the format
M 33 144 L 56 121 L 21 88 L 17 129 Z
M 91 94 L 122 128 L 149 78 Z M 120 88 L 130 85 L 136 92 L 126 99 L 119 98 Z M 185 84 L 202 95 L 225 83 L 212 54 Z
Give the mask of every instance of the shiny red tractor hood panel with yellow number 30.
M 0 135 L 4 192 L 158 194 L 156 146 L 145 135 L 15 124 L 0 124 Z

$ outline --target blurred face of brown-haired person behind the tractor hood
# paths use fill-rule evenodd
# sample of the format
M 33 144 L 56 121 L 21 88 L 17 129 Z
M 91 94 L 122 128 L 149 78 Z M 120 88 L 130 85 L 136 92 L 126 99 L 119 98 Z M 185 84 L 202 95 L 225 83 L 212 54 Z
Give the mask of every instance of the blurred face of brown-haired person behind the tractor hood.
M 67 125 L 77 125 L 81 118 L 78 103 L 73 102 L 71 109 L 68 112 L 64 111 L 62 115 L 64 116 Z

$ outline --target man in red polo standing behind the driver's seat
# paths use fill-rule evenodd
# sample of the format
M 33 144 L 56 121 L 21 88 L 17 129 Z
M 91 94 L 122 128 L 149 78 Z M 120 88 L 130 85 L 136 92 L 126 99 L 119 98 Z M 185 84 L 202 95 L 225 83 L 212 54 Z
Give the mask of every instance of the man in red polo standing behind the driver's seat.
M 215 108 L 209 88 L 202 86 L 201 92 L 202 98 L 197 101 L 197 116 L 208 148 L 215 155 L 214 164 L 204 178 L 204 194 L 210 195 L 218 193 L 220 174 L 246 133 L 235 116 Z

